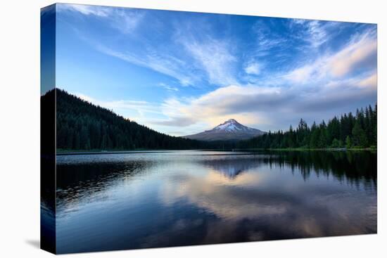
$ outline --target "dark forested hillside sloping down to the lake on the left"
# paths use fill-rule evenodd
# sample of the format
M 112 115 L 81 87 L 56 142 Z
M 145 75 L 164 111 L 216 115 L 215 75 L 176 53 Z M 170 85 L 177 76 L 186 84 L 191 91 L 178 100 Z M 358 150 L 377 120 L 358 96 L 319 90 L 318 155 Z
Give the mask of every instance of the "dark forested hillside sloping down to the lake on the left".
M 92 105 L 61 89 L 56 91 L 56 148 L 65 150 L 132 150 L 204 148 L 201 141 L 160 134 L 111 110 Z

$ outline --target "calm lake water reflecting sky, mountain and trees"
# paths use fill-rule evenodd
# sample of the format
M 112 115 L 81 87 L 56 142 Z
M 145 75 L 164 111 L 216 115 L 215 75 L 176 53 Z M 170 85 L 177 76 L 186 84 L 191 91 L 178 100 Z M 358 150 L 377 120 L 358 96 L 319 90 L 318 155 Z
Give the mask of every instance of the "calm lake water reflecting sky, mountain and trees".
M 376 154 L 57 157 L 59 253 L 376 233 Z

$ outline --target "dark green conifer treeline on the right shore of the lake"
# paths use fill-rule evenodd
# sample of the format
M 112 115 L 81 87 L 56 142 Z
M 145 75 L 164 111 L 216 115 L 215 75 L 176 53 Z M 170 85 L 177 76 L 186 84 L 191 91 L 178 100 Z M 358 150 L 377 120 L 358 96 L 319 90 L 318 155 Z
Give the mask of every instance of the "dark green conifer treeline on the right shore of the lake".
M 376 148 L 377 105 L 360 109 L 326 124 L 315 122 L 308 127 L 301 119 L 298 127 L 288 131 L 269 131 L 268 134 L 237 143 L 238 148 Z

